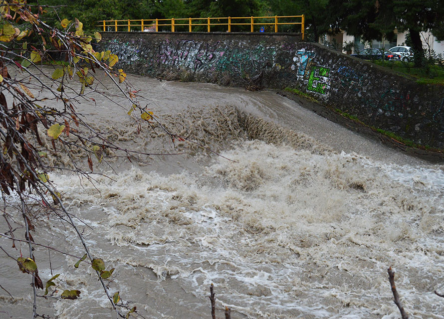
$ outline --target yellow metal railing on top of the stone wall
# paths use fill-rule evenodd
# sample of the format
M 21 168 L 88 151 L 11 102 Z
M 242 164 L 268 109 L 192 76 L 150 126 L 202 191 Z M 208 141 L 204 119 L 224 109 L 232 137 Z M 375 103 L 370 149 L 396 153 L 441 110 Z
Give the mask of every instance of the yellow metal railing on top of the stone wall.
M 279 22 L 279 19 L 280 22 Z M 282 22 L 282 19 L 298 19 L 297 22 Z M 299 21 L 300 19 L 300 21 Z M 265 20 L 265 21 L 264 21 Z M 270 22 L 271 21 L 271 22 Z M 283 16 L 243 16 L 243 17 L 207 17 L 207 18 L 171 18 L 171 19 L 141 19 L 141 20 L 101 20 L 97 26 L 103 27 L 103 31 L 107 28 L 119 31 L 124 27 L 128 31 L 135 31 L 140 27 L 141 31 L 148 29 L 149 31 L 159 32 L 159 27 L 171 27 L 171 32 L 175 32 L 180 27 L 181 31 L 184 26 L 188 26 L 188 32 L 192 32 L 192 27 L 198 25 L 207 26 L 207 31 L 211 32 L 211 27 L 216 25 L 226 25 L 227 32 L 231 32 L 231 27 L 236 25 L 249 25 L 250 32 L 254 32 L 255 26 L 274 25 L 274 32 L 277 32 L 279 25 L 301 25 L 302 39 L 304 39 L 305 21 L 304 15 L 283 15 Z M 257 28 L 256 28 L 257 29 Z M 185 28 L 185 30 L 187 30 Z

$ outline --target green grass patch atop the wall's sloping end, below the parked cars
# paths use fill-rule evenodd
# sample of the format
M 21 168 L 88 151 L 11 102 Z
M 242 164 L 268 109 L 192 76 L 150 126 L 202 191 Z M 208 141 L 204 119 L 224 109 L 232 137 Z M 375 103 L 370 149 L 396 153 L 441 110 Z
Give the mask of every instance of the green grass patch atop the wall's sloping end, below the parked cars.
M 419 84 L 444 85 L 444 67 L 440 65 L 427 65 L 415 67 L 413 62 L 404 61 L 373 61 L 377 65 L 408 74 L 416 78 Z

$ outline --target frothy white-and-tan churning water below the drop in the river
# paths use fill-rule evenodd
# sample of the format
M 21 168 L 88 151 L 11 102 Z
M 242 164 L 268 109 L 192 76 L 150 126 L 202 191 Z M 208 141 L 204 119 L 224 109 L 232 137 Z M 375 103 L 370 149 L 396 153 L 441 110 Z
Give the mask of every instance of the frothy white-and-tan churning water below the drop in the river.
M 100 193 L 68 176 L 62 190 L 72 205 L 99 202 L 99 221 L 88 219 L 116 244 L 97 241 L 107 260 L 202 300 L 215 283 L 221 305 L 252 318 L 391 318 L 389 266 L 406 305 L 442 309 L 424 293 L 444 279 L 439 168 L 406 182 L 414 168 L 259 141 L 224 155 L 235 162 L 202 174 L 132 168 L 98 176 Z

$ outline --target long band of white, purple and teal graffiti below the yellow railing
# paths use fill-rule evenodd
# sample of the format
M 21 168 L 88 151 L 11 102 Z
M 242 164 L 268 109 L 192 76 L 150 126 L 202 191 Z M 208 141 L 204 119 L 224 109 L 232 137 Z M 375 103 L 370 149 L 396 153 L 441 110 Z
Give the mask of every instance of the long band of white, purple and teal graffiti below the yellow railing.
M 113 40 L 106 49 L 116 52 L 119 61 L 132 65 L 143 63 L 149 73 L 172 67 L 193 73 L 225 72 L 254 76 L 275 66 L 274 46 L 259 44 L 254 48 L 248 43 L 223 41 L 158 40 L 150 45 L 130 45 Z M 150 72 L 151 71 L 151 72 Z

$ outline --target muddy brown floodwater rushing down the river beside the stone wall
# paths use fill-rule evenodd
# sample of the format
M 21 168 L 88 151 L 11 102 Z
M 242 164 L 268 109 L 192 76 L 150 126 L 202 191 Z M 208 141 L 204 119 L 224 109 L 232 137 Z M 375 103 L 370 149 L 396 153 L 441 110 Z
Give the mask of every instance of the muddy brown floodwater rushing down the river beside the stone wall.
M 223 157 L 149 129 L 138 134 L 110 102 L 82 104 L 113 142 L 182 153 L 116 160 L 94 183 L 50 175 L 82 220 L 92 254 L 116 269 L 111 295 L 119 291 L 145 318 L 203 319 L 213 283 L 221 318 L 227 306 L 233 319 L 396 319 L 391 266 L 410 318 L 444 318 L 444 299 L 434 294 L 444 292 L 443 165 L 386 148 L 274 92 L 129 78 L 168 129 Z M 33 237 L 83 255 L 62 222 L 41 218 Z M 48 259 L 44 249 L 35 255 Z M 75 262 L 51 252 L 40 277 L 62 274 L 57 289 L 78 289 L 81 298 L 39 298 L 37 313 L 115 317 L 95 272 Z M 3 256 L 1 265 L 13 298 L 0 291 L 0 317 L 29 318 L 27 276 Z

